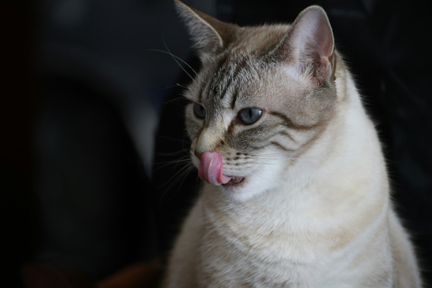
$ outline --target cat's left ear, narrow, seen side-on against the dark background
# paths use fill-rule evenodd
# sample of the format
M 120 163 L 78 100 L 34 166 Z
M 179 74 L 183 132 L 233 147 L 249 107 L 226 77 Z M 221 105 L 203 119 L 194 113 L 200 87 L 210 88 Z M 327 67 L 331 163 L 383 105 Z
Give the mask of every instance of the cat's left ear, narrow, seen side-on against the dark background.
M 233 38 L 236 25 L 225 23 L 186 4 L 174 0 L 177 12 L 186 22 L 198 56 L 207 60 L 214 52 L 226 47 Z

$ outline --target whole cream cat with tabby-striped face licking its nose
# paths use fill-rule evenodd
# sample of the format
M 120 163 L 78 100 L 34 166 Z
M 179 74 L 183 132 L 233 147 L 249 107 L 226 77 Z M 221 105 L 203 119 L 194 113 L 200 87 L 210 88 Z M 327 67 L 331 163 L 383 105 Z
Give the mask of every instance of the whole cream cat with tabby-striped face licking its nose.
M 202 62 L 184 96 L 204 184 L 163 286 L 421 287 L 325 11 L 240 27 L 175 6 Z

